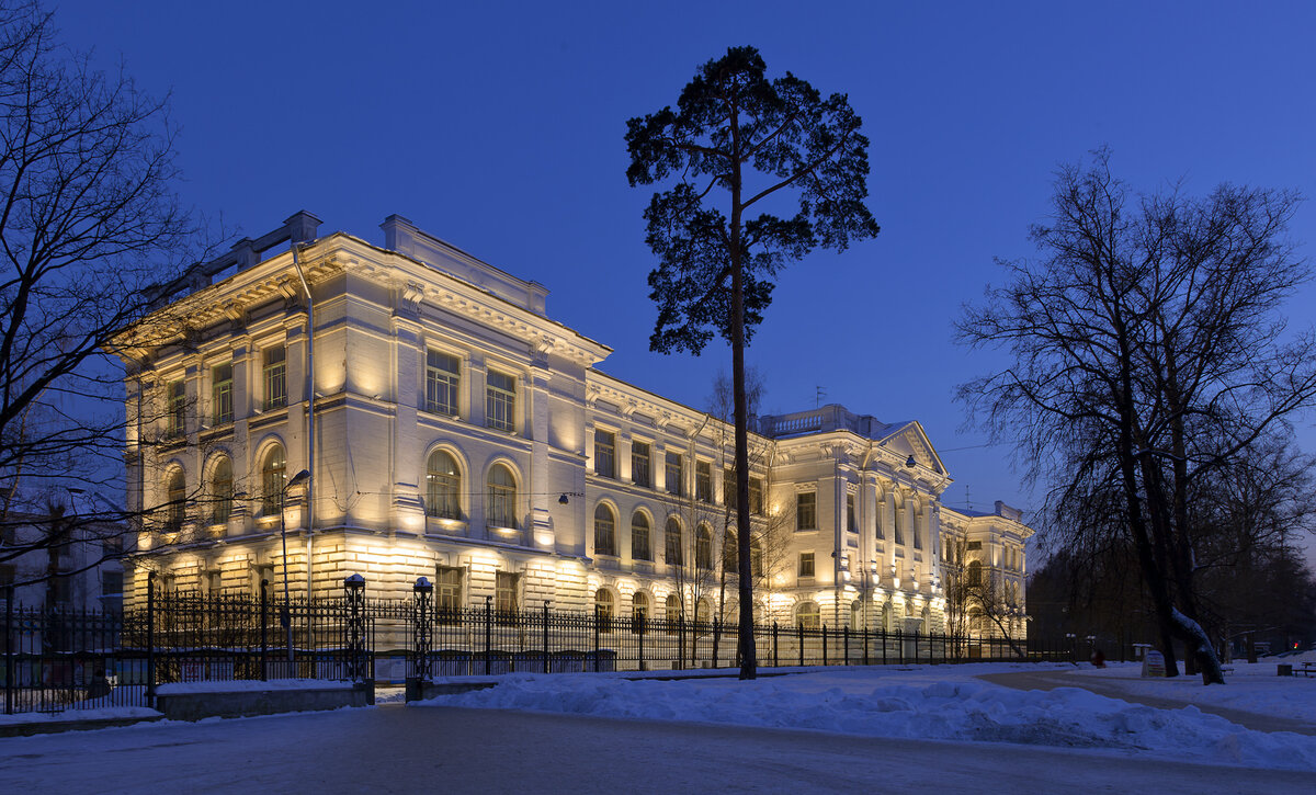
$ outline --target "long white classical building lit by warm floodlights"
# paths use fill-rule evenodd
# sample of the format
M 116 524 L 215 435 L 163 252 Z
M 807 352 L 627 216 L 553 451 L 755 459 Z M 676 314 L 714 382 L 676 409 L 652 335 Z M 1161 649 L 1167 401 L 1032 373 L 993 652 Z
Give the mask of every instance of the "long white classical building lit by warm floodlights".
M 361 573 L 376 596 L 428 577 L 440 605 L 734 616 L 726 423 L 601 372 L 611 349 L 551 320 L 544 286 L 401 217 L 383 246 L 317 226 L 240 242 L 118 341 L 130 503 L 151 509 L 130 600 L 147 570 L 241 592 L 286 563 L 309 595 Z M 948 537 L 1023 571 L 1028 528 L 944 508 L 916 421 L 828 405 L 757 429 L 762 620 L 940 632 Z

